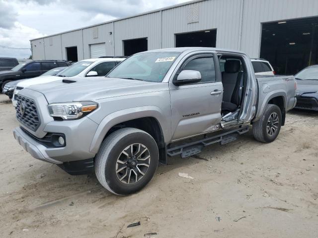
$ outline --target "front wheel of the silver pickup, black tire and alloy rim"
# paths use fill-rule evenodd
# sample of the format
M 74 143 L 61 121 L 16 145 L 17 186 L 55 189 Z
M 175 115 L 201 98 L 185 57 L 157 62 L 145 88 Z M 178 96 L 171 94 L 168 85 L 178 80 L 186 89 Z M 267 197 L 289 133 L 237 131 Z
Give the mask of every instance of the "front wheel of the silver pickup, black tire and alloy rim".
M 138 144 L 141 144 L 142 149 L 147 148 L 148 150 L 145 152 L 147 153 L 147 158 L 150 157 L 149 160 L 149 166 L 146 167 L 145 165 L 142 164 L 147 164 L 148 165 L 148 160 L 147 162 L 140 162 L 138 159 L 134 159 L 133 157 L 139 157 L 142 156 L 143 154 L 140 154 L 139 156 L 132 156 L 129 157 L 130 155 L 127 155 L 127 163 L 124 164 L 120 158 L 123 154 L 123 152 L 129 152 L 129 150 L 125 150 L 128 147 L 131 148 L 130 146 L 133 145 L 136 146 Z M 139 152 L 141 151 L 141 146 L 139 147 Z M 133 149 L 131 149 L 133 150 Z M 136 152 L 135 155 L 137 155 L 139 152 Z M 149 153 L 148 153 L 149 152 Z M 131 155 L 134 155 L 134 153 L 131 153 Z M 132 161 L 133 159 L 137 163 L 134 164 L 136 165 L 135 167 L 129 167 L 133 166 Z M 142 157 L 140 157 L 142 159 Z M 143 158 L 144 159 L 144 158 Z M 118 160 L 120 160 L 121 163 L 118 163 Z M 129 162 L 130 161 L 130 162 Z M 122 128 L 119 130 L 116 130 L 115 132 L 111 133 L 106 139 L 102 142 L 99 151 L 95 157 L 95 174 L 100 182 L 100 184 L 105 187 L 108 191 L 115 193 L 117 195 L 127 195 L 130 193 L 137 192 L 141 190 L 144 186 L 148 184 L 148 182 L 153 178 L 157 167 L 158 167 L 158 162 L 159 162 L 159 150 L 157 143 L 155 139 L 148 134 L 147 132 L 136 129 L 136 128 Z M 124 165 L 121 165 L 124 164 Z M 128 165 L 127 165 L 128 164 Z M 138 167 L 138 165 L 142 167 Z M 117 169 L 117 166 L 121 166 L 120 169 L 126 166 L 126 169 L 122 170 L 122 172 L 118 171 L 120 169 Z M 148 169 L 147 169 L 148 168 Z M 147 171 L 146 171 L 147 169 Z M 140 180 L 137 179 L 136 177 L 137 174 L 134 170 L 138 173 L 137 170 L 144 170 L 144 175 L 140 176 Z M 127 171 L 127 172 L 126 172 Z M 127 176 L 123 177 L 119 176 L 120 173 L 126 172 L 126 175 L 129 173 L 132 174 L 135 179 L 132 179 L 133 183 L 130 182 L 130 176 L 129 179 L 127 180 Z M 133 173 L 132 173 L 133 172 Z M 138 173 L 140 174 L 140 173 Z M 136 175 L 136 176 L 135 176 Z M 121 177 L 121 178 L 119 178 Z M 125 183 L 126 180 L 126 183 Z

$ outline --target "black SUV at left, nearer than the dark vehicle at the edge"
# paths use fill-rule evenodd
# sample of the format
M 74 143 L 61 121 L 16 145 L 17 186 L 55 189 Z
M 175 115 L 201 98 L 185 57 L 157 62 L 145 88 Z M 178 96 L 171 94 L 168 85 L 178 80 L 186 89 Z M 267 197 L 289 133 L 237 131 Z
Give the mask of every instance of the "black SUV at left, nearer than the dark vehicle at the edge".
M 8 71 L 0 71 L 0 89 L 2 91 L 7 82 L 34 78 L 56 67 L 70 66 L 70 62 L 65 60 L 35 60 L 20 63 Z

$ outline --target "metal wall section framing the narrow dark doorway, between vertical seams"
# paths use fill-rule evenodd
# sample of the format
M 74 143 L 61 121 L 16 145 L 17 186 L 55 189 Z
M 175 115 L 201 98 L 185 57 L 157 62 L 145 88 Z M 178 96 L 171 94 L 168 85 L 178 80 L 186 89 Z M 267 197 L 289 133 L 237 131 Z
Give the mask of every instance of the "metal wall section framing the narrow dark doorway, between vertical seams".
M 82 30 L 67 32 L 61 35 L 62 38 L 62 60 L 66 59 L 66 47 L 78 47 L 78 60 L 83 60 L 83 38 Z

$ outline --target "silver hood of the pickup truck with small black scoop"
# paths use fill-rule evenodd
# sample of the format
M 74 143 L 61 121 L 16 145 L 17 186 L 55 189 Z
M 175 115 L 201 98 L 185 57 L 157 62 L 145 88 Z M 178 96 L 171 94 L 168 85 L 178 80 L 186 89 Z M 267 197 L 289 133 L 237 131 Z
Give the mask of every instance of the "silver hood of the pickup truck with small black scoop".
M 44 94 L 48 103 L 96 101 L 110 97 L 168 90 L 168 84 L 161 82 L 105 77 L 58 78 L 59 80 L 55 82 L 32 85 L 28 88 Z M 63 79 L 75 82 L 65 83 Z

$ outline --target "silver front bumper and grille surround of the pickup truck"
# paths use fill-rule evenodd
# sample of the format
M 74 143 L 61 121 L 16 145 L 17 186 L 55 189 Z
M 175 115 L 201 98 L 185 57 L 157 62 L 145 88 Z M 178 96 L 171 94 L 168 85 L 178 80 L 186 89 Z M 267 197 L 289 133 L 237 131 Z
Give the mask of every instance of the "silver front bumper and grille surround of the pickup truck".
M 36 130 L 19 121 L 20 127 L 13 134 L 18 143 L 34 158 L 54 164 L 87 160 L 95 157 L 90 146 L 98 124 L 88 117 L 76 120 L 54 120 L 47 110 L 47 101 L 43 94 L 23 89 L 23 97 L 31 98 L 36 105 L 39 125 Z M 29 116 L 27 116 L 29 117 Z M 54 135 L 63 135 L 65 144 L 57 146 Z M 52 137 L 53 135 L 53 137 Z M 54 139 L 55 138 L 55 139 Z

